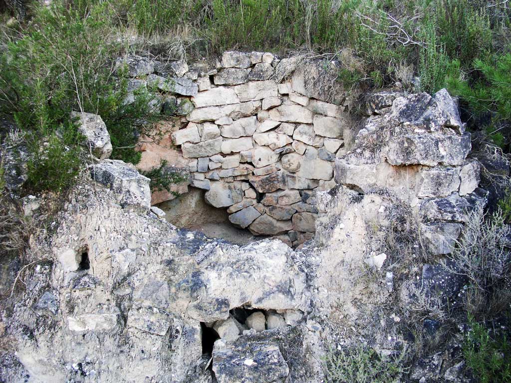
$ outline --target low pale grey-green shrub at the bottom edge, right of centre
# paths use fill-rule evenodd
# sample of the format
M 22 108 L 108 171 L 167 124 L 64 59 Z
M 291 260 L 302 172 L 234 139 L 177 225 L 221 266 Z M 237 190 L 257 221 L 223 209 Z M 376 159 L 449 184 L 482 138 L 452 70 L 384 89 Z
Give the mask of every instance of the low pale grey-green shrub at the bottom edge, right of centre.
M 322 359 L 327 383 L 397 383 L 404 368 L 400 360 L 380 357 L 372 348 L 330 349 Z

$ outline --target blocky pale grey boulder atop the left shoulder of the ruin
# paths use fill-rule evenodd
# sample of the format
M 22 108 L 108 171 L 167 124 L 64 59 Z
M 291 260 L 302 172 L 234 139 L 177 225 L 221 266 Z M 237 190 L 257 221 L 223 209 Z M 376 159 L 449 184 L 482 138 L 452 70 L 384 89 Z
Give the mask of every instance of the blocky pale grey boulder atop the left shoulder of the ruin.
M 145 209 L 151 206 L 151 180 L 138 173 L 132 164 L 105 159 L 91 166 L 90 173 L 94 180 L 113 191 L 121 206 L 142 206 Z

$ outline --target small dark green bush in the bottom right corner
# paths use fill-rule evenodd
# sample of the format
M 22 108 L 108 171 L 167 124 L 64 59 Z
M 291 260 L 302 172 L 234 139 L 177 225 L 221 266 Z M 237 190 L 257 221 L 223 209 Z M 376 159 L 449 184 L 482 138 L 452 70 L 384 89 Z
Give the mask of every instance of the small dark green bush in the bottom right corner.
M 481 383 L 511 381 L 511 343 L 505 334 L 491 337 L 490 331 L 473 318 L 469 324 L 463 356 L 474 377 Z

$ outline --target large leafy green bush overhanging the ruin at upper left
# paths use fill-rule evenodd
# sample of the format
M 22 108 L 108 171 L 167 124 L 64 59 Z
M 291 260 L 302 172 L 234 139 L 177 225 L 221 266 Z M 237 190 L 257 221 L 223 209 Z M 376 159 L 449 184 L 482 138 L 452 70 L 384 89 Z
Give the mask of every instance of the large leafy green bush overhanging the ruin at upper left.
M 13 115 L 31 137 L 30 188 L 61 190 L 77 174 L 80 137 L 72 110 L 101 115 L 113 158 L 137 163 L 137 137 L 159 113 L 146 93 L 125 105 L 127 72 L 114 67 L 123 47 L 112 38 L 117 15 L 111 4 L 56 1 L 34 15 L 0 54 L 0 112 Z

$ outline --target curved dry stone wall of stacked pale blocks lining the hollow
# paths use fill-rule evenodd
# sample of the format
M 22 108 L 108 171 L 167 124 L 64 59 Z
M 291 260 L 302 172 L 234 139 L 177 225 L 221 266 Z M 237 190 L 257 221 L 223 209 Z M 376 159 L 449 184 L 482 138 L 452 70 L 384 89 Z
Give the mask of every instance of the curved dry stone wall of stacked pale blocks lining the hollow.
M 132 89 L 147 86 L 182 115 L 172 141 L 207 203 L 253 234 L 295 246 L 312 238 L 315 194 L 335 185 L 333 161 L 349 128 L 345 92 L 328 81 L 335 63 L 259 52 L 191 67 L 127 63 Z

